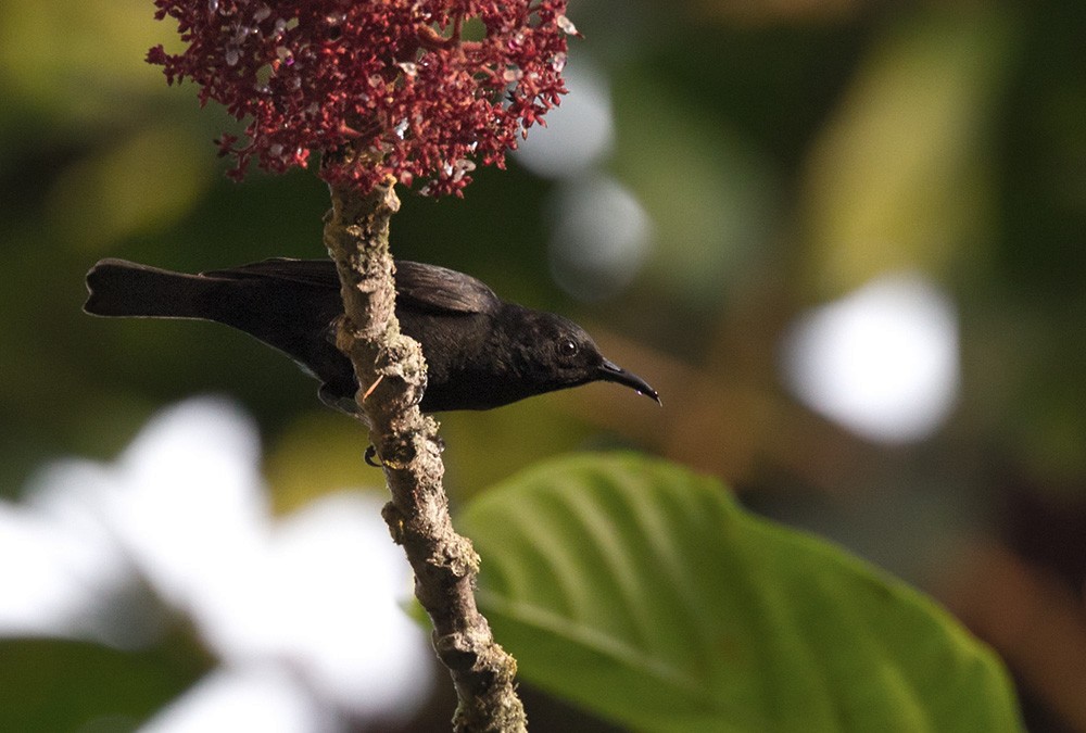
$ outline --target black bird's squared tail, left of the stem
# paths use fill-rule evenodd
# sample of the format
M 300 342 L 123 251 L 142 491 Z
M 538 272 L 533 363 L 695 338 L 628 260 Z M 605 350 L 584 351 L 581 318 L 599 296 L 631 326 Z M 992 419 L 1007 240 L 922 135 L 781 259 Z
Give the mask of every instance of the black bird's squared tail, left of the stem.
M 97 316 L 200 318 L 212 282 L 126 260 L 102 260 L 87 273 L 83 309 Z

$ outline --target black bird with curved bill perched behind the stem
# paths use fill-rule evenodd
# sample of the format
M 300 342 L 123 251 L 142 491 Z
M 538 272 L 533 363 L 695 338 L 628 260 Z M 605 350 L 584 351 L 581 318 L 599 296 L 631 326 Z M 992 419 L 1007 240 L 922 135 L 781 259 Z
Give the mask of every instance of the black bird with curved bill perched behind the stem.
M 426 356 L 422 412 L 490 409 L 599 380 L 660 401 L 577 324 L 503 301 L 473 277 L 396 261 L 395 286 L 401 329 Z M 84 309 L 93 315 L 200 318 L 245 331 L 316 376 L 325 404 L 358 413 L 354 369 L 334 343 L 343 303 L 331 260 L 265 260 L 199 275 L 102 260 L 87 288 Z

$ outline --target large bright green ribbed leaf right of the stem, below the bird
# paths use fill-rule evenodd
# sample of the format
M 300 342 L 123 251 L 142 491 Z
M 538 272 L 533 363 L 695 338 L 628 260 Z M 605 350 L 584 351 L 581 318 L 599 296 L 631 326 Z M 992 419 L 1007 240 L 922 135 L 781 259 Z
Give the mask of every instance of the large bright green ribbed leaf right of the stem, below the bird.
M 999 661 L 947 612 L 681 467 L 563 458 L 460 525 L 521 677 L 636 730 L 1021 730 Z

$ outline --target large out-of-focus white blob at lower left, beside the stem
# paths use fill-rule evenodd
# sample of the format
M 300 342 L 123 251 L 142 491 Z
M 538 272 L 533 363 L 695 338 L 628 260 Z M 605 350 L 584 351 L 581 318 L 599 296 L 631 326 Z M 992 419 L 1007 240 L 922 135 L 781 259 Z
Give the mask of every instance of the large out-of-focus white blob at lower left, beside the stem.
M 185 615 L 222 668 L 157 733 L 239 730 L 223 724 L 252 723 L 245 710 L 299 732 L 409 717 L 432 655 L 400 607 L 409 571 L 379 500 L 343 492 L 276 520 L 258 458 L 252 424 L 202 399 L 152 419 L 114 465 L 50 467 L 25 503 L 0 503 L 0 635 L 131 647 Z

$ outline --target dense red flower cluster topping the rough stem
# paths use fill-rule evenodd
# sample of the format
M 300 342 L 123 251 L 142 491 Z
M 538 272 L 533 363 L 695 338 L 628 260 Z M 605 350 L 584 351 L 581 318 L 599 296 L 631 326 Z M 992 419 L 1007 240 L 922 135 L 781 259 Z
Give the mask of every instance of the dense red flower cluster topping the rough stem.
M 248 121 L 224 154 L 368 190 L 388 175 L 457 193 L 565 93 L 566 0 L 155 0 L 188 48 L 148 61 Z M 350 144 L 348 144 L 350 143 Z M 346 154 L 348 151 L 351 154 Z

